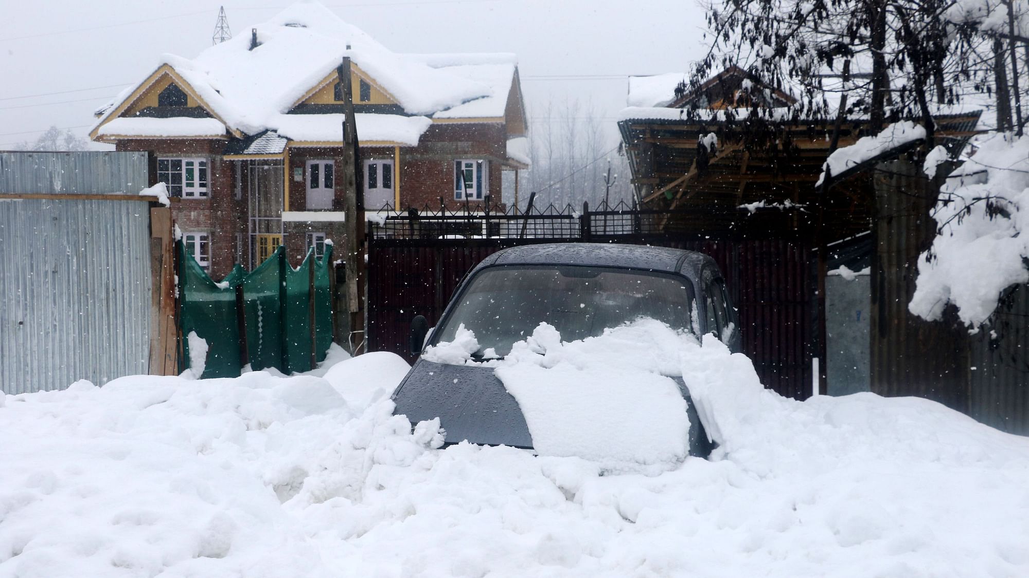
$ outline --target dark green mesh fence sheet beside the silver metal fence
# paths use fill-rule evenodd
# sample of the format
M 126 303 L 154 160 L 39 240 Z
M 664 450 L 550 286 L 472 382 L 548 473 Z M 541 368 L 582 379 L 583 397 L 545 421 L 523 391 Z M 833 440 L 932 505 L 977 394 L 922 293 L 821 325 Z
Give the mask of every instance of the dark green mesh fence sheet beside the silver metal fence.
M 208 277 L 181 242 L 176 250 L 182 367 L 190 366 L 191 332 L 208 345 L 205 378 L 238 376 L 244 362 L 253 370 L 274 367 L 289 374 L 325 359 L 332 342 L 331 245 L 321 259 L 309 251 L 296 269 L 279 247 L 250 273 L 237 264 L 221 283 Z

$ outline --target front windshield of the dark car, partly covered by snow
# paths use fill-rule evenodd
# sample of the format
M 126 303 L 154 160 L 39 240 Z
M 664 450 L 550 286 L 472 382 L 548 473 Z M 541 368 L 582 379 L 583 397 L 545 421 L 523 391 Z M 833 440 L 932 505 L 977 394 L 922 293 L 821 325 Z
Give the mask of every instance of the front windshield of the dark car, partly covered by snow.
M 641 317 L 690 329 L 694 291 L 683 277 L 589 266 L 504 266 L 478 273 L 432 342 L 454 340 L 464 325 L 478 339 L 475 357 L 497 356 L 546 322 L 571 341 Z

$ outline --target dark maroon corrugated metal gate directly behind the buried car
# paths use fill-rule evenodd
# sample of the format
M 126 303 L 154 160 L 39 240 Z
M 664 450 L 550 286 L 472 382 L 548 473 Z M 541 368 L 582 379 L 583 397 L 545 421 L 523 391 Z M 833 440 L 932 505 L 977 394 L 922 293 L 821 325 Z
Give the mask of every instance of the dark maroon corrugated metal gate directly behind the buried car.
M 547 240 L 535 240 L 540 241 Z M 617 242 L 711 255 L 740 310 L 743 352 L 753 360 L 761 383 L 789 397 L 811 395 L 816 303 L 810 247 L 787 240 L 715 242 L 646 236 L 619 236 Z M 413 360 L 407 352 L 412 319 L 424 315 L 434 324 L 468 270 L 488 255 L 519 243 L 372 240 L 367 268 L 368 351 L 391 351 Z

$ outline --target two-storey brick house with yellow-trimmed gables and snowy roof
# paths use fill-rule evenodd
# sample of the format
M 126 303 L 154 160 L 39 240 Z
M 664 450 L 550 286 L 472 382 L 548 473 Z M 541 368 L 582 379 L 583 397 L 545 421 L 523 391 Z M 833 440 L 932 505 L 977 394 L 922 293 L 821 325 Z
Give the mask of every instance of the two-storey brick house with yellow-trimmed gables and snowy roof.
M 366 211 L 499 201 L 525 169 L 513 55 L 399 55 L 313 1 L 193 60 L 161 65 L 96 113 L 95 141 L 150 152 L 173 218 L 211 276 L 344 234 L 343 91 L 351 86 Z

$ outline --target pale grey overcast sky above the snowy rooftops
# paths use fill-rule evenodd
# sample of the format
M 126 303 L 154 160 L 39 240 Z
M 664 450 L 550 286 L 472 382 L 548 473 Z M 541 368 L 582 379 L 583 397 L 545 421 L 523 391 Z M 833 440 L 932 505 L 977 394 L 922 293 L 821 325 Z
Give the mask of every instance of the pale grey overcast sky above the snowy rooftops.
M 683 71 L 704 50 L 695 0 L 352 0 L 323 3 L 398 52 L 514 52 L 530 117 L 592 101 L 607 135 L 626 76 Z M 211 45 L 218 6 L 246 34 L 283 0 L 0 0 L 0 149 L 93 110 L 156 67 Z M 537 111 L 537 112 L 534 112 Z M 534 121 L 535 122 L 535 121 Z

